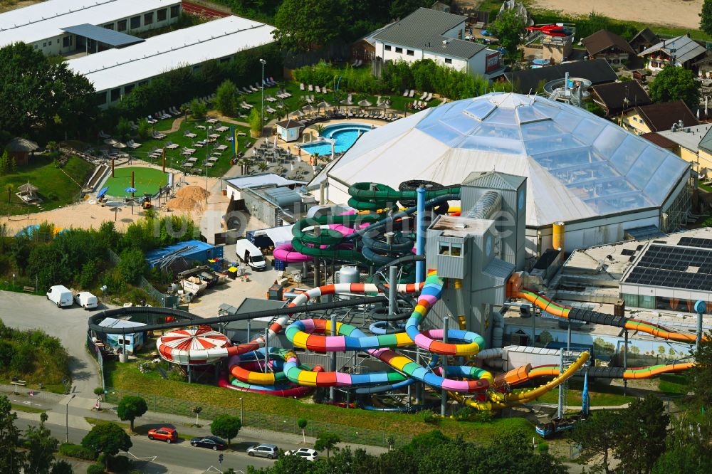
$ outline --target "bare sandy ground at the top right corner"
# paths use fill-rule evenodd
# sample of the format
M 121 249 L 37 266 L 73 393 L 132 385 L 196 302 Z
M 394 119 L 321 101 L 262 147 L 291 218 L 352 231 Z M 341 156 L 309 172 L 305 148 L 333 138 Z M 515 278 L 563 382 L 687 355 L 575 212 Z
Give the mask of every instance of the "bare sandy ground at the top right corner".
M 532 0 L 535 8 L 561 11 L 570 15 L 587 15 L 591 11 L 618 20 L 649 25 L 700 28 L 703 0 Z

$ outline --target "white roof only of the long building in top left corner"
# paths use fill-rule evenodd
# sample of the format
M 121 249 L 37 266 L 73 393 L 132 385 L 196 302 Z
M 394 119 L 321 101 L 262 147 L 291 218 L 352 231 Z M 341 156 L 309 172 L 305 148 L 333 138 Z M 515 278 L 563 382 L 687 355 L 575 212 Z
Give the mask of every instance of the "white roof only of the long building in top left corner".
M 146 11 L 179 5 L 179 0 L 48 0 L 0 14 L 0 46 L 36 43 L 64 34 L 62 28 L 103 25 Z

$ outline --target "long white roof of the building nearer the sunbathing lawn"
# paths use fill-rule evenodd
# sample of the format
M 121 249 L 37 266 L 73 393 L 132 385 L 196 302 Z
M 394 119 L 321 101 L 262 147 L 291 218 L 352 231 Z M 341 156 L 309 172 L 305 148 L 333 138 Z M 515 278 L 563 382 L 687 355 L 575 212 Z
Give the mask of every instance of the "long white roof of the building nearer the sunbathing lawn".
M 273 26 L 265 23 L 226 16 L 153 36 L 127 48 L 73 59 L 67 65 L 85 75 L 99 92 L 147 80 L 179 66 L 204 63 L 273 43 L 273 30 Z

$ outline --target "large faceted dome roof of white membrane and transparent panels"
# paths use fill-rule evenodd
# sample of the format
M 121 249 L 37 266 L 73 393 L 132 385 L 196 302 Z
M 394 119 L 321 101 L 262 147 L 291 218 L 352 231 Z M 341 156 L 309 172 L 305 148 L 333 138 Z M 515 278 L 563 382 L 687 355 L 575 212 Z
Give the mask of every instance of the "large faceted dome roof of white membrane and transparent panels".
M 540 226 L 659 207 L 688 166 L 579 107 L 491 93 L 366 133 L 314 182 L 328 172 L 349 184 L 456 184 L 469 172 L 496 170 L 528 178 L 527 223 Z

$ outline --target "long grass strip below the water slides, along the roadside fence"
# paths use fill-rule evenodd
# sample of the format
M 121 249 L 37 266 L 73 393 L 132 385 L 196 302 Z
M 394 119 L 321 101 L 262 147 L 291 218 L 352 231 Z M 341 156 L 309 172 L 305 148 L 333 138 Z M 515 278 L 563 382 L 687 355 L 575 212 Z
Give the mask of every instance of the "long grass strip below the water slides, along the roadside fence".
M 143 360 L 145 359 L 140 362 Z M 533 433 L 533 426 L 524 418 L 494 418 L 491 422 L 455 421 L 445 418 L 438 425 L 433 425 L 424 423 L 419 414 L 345 410 L 336 406 L 314 404 L 310 396 L 304 399 L 286 399 L 162 379 L 155 371 L 147 374 L 139 372 L 137 362 L 105 362 L 104 367 L 107 386 L 140 392 L 145 396 L 156 395 L 185 400 L 195 405 L 230 407 L 239 411 L 239 399 L 242 398 L 246 411 L 322 420 L 356 429 L 367 428 L 407 436 L 439 429 L 448 436 L 461 435 L 468 441 L 488 441 L 496 433 L 507 430 L 522 429 Z

